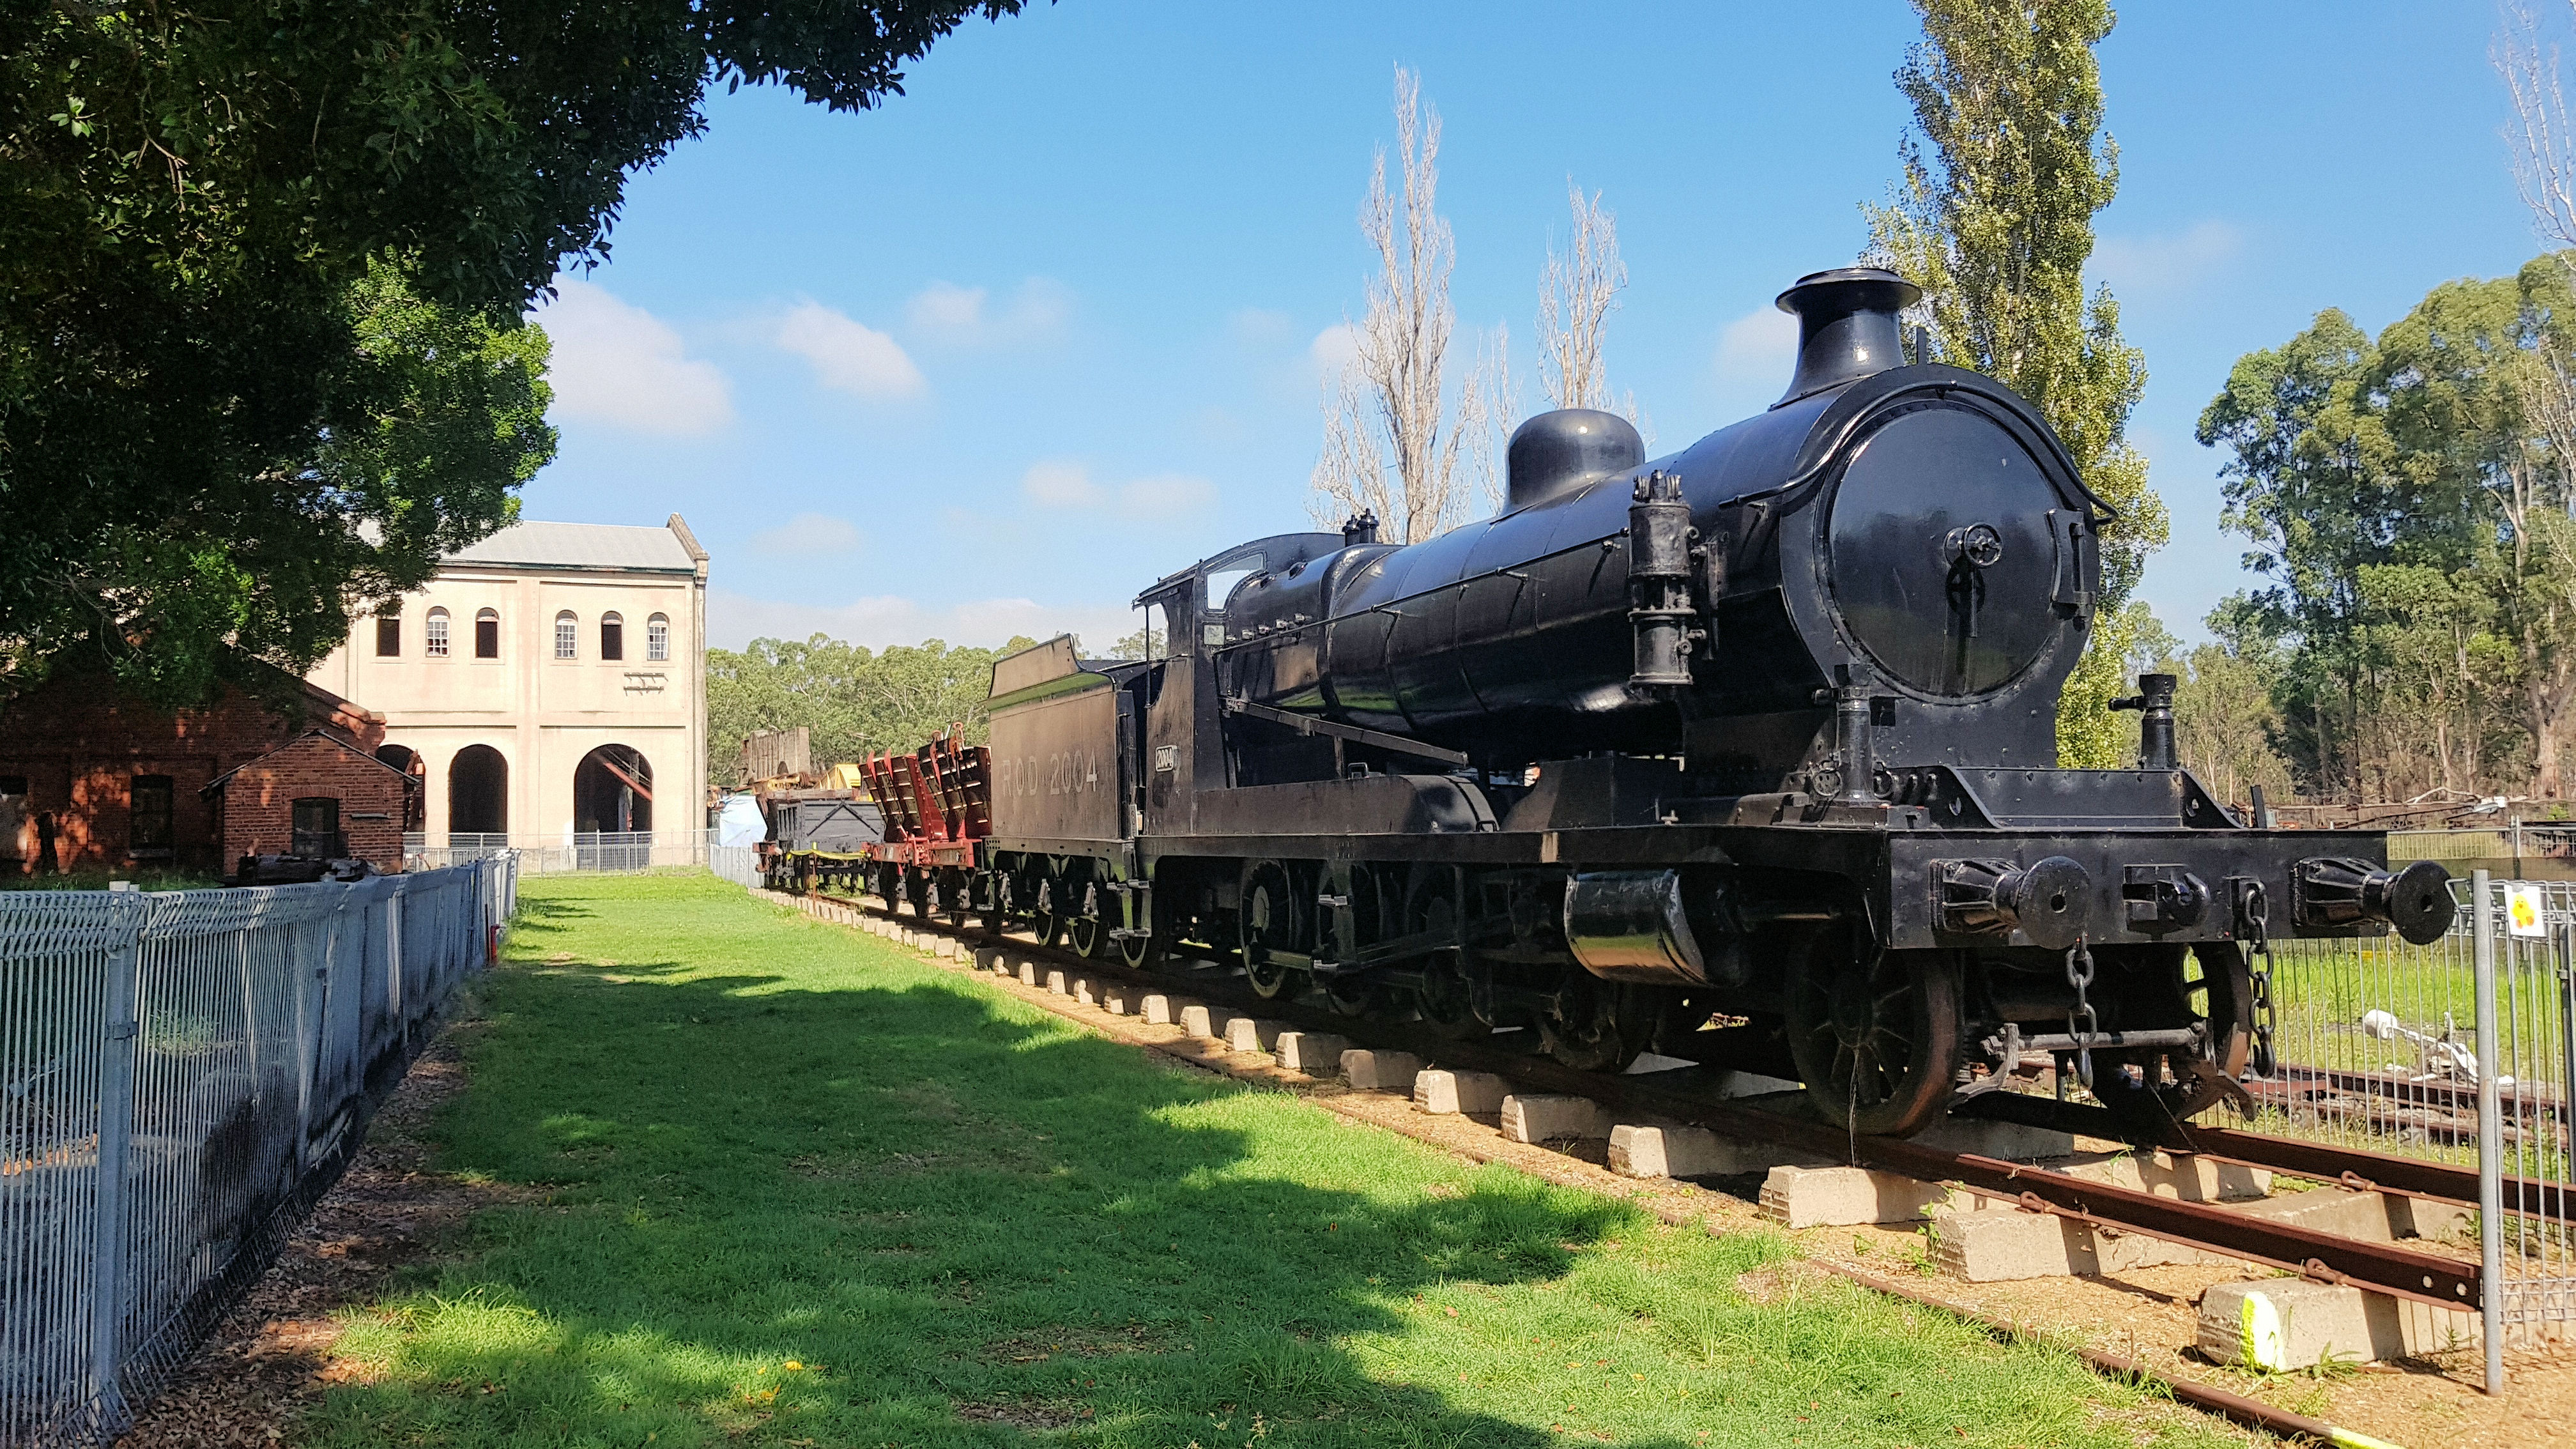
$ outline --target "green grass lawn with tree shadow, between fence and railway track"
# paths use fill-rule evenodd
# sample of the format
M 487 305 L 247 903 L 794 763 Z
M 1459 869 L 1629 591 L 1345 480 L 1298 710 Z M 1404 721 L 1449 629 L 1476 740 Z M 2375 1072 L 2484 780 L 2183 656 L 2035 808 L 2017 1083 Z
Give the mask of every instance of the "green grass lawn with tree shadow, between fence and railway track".
M 350 1312 L 307 1444 L 2236 1441 L 711 877 L 523 890 L 438 1140 L 549 1191 Z

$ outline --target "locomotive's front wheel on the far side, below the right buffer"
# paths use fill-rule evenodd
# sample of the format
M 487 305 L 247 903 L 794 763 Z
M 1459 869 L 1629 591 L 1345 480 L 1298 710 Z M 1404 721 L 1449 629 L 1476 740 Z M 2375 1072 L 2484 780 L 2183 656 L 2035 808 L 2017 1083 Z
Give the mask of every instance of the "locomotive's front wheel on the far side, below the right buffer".
M 2233 1096 L 2213 1078 L 2233 1083 L 2246 1070 L 2254 1047 L 2254 972 L 2236 941 L 2148 949 L 2164 959 L 2125 975 L 2117 1024 L 2130 1031 L 2208 1024 L 2208 1036 L 2200 1047 L 2094 1052 L 2092 1093 L 2123 1127 L 2154 1140 Z M 2112 959 L 2102 964 L 2117 967 Z

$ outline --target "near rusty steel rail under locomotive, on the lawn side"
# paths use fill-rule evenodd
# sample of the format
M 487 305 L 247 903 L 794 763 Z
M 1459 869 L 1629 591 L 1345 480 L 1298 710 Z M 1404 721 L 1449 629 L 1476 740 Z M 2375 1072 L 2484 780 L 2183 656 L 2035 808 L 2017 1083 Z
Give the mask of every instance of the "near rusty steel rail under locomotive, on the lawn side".
M 860 910 L 868 908 L 860 905 Z M 904 920 L 891 913 L 886 913 L 886 918 Z M 1033 938 L 1020 941 L 1012 936 L 992 936 L 979 926 L 951 926 L 938 918 L 909 920 L 917 928 L 1043 954 L 1069 969 L 1110 975 L 1136 985 L 1188 990 L 1190 995 L 1218 1006 L 1252 1011 L 1298 1029 L 1329 1031 L 1365 1047 L 1406 1049 L 1443 1065 L 1494 1073 L 1499 1078 L 1546 1091 L 1610 1101 L 1687 1127 L 1708 1127 L 1710 1132 L 1739 1140 L 1777 1142 L 1826 1160 L 1844 1160 L 1857 1168 L 1875 1168 L 1922 1181 L 1955 1181 L 1984 1196 L 2017 1201 L 2027 1212 L 2048 1212 L 2089 1227 L 2141 1232 L 2146 1238 L 2164 1238 L 2192 1248 L 2215 1248 L 2233 1258 L 2267 1263 L 2308 1279 L 2352 1284 L 2432 1307 L 2473 1312 L 2481 1305 L 2481 1274 L 2476 1263 L 2419 1253 L 2393 1243 L 2362 1243 L 2354 1238 L 2318 1232 L 2313 1227 L 2246 1217 L 2226 1207 L 2156 1196 L 2115 1183 L 2097 1183 L 2053 1168 L 2007 1163 L 1978 1152 L 1942 1152 L 1901 1137 L 1862 1137 L 1824 1122 L 1801 1122 L 1795 1116 L 1680 1091 L 1687 1085 L 1710 1085 L 1703 1070 L 1649 1073 L 1638 1078 L 1584 1073 L 1548 1057 L 1502 1049 L 1489 1042 L 1455 1042 L 1419 1029 L 1406 1029 L 1394 1021 L 1342 1016 L 1334 1011 L 1316 1011 L 1303 1003 L 1262 998 L 1252 987 L 1229 980 L 1224 972 L 1234 972 L 1234 967 L 1224 967 L 1218 962 L 1185 962 L 1167 957 L 1167 962 L 1180 967 L 1180 972 L 1149 972 L 1128 967 L 1115 957 L 1090 959 L 1061 946 L 1043 946 Z M 2112 1132 L 2112 1137 L 2117 1137 L 2117 1132 Z

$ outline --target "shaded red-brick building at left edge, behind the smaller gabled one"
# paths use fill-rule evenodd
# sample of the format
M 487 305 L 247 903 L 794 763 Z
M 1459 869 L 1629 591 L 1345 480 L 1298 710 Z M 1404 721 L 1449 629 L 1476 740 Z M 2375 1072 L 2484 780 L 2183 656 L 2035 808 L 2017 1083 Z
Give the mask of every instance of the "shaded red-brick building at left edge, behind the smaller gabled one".
M 381 714 L 327 688 L 281 676 L 276 696 L 227 683 L 211 704 L 173 712 L 106 673 L 75 673 L 10 699 L 0 706 L 0 871 L 227 871 L 237 856 L 224 851 L 222 802 L 206 789 L 216 776 L 317 730 L 368 755 L 384 743 Z M 397 869 L 399 848 L 379 864 Z

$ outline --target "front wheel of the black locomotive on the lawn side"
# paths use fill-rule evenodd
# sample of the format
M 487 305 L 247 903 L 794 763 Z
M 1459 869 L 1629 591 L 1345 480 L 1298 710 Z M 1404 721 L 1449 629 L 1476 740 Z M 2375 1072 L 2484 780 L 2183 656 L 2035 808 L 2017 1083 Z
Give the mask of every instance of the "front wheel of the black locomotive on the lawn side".
M 1819 931 L 1788 969 L 1788 1047 L 1826 1122 L 1868 1137 L 1922 1132 L 1958 1073 L 1958 967 L 1940 951 L 1870 951 Z

